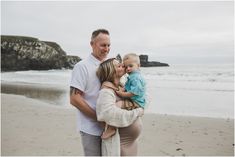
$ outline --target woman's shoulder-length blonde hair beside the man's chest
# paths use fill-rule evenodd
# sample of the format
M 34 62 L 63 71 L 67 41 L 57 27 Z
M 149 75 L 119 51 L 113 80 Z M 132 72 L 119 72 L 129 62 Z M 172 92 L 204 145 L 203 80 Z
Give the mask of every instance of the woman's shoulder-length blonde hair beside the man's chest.
M 114 83 L 114 79 L 116 76 L 116 69 L 113 61 L 116 60 L 115 58 L 107 59 L 106 61 L 102 62 L 96 71 L 96 75 L 102 84 L 105 81 L 109 81 Z

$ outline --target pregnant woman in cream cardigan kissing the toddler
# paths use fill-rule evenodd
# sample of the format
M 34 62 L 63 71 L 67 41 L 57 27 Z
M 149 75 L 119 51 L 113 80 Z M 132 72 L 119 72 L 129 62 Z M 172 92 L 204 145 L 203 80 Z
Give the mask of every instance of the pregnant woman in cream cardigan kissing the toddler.
M 115 105 L 120 100 L 115 90 L 118 89 L 120 79 L 124 74 L 123 65 L 115 58 L 104 61 L 97 70 L 97 76 L 102 84 L 96 105 L 97 119 L 108 125 L 119 127 L 119 131 L 117 130 L 114 136 L 102 140 L 102 155 L 105 156 L 137 155 L 136 140 L 142 129 L 142 123 L 138 117 L 143 115 L 143 109 L 128 111 Z

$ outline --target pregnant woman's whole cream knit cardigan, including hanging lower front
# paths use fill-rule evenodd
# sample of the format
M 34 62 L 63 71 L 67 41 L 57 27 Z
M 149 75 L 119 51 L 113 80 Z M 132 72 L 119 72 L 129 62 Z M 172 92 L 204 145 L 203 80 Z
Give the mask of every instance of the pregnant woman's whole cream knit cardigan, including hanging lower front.
M 110 88 L 100 90 L 96 105 L 98 121 L 115 127 L 127 127 L 143 114 L 141 108 L 131 111 L 120 109 L 115 105 L 116 101 L 117 96 L 114 90 Z M 102 156 L 120 156 L 120 152 L 120 136 L 117 129 L 114 136 L 102 140 Z

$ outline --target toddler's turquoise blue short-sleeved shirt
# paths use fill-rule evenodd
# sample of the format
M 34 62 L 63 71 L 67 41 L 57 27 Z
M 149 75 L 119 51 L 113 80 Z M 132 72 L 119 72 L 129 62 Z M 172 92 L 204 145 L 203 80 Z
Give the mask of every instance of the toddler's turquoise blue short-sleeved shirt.
M 135 94 L 131 97 L 131 100 L 140 105 L 142 108 L 145 107 L 145 92 L 146 92 L 146 82 L 142 77 L 140 70 L 133 71 L 127 77 L 125 84 L 125 89 L 127 92 Z

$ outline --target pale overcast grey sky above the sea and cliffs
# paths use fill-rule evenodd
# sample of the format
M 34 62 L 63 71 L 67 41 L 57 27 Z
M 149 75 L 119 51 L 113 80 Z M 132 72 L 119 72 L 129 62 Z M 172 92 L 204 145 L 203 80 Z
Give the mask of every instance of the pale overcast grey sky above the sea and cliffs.
M 129 52 L 169 64 L 233 63 L 233 1 L 1 1 L 1 34 L 90 54 L 91 33 L 108 29 L 110 57 Z

